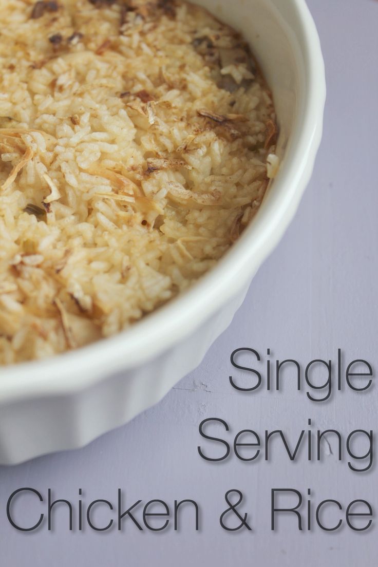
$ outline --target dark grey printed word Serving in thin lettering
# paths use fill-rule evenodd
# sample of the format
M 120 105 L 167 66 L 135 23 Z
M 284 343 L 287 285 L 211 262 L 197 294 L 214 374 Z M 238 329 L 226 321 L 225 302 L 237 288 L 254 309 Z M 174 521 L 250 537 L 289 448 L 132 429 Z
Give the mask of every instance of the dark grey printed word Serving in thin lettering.
M 348 467 L 354 472 L 366 472 L 373 466 L 373 431 L 355 429 L 343 435 L 336 429 L 313 429 L 312 420 L 308 428 L 287 434 L 282 429 L 257 432 L 242 429 L 231 433 L 228 423 L 218 417 L 208 417 L 199 424 L 199 435 L 207 440 L 206 447 L 197 447 L 199 456 L 206 461 L 221 462 L 231 452 L 241 461 L 258 462 L 272 460 L 275 454 L 286 455 L 295 462 L 301 458 L 322 461 L 332 453 L 339 461 L 347 459 Z M 220 437 L 222 432 L 222 437 Z M 215 434 L 216 433 L 216 437 Z

